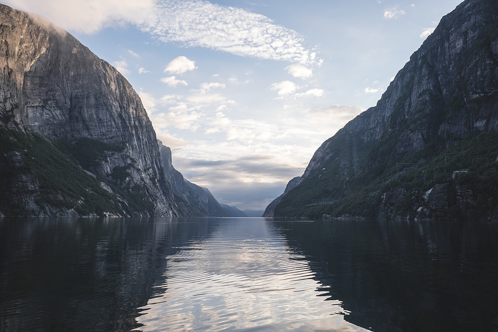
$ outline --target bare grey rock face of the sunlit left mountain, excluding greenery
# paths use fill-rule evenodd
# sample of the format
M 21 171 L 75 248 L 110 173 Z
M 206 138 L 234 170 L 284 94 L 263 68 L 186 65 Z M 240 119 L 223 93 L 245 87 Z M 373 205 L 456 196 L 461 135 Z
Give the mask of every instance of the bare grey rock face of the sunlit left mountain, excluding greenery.
M 0 5 L 0 21 L 0 128 L 4 136 L 17 131 L 35 139 L 31 133 L 38 133 L 52 145 L 58 142 L 58 146 L 66 146 L 66 152 L 91 173 L 88 176 L 99 178 L 102 187 L 109 188 L 113 204 L 118 207 L 116 215 L 176 216 L 155 132 L 127 80 L 69 33 L 41 17 Z M 82 138 L 89 140 L 80 141 Z M 85 153 L 88 157 L 95 152 L 96 146 L 100 154 L 94 153 L 95 162 L 82 158 Z M 12 164 L 9 153 L 19 154 L 14 159 L 25 159 L 23 151 L 3 153 L 4 163 Z M 16 186 L 23 183 L 32 189 L 29 195 L 33 199 L 24 195 L 17 200 L 29 201 L 25 214 L 85 214 L 67 208 L 54 210 L 56 203 L 46 200 L 41 204 L 37 186 L 46 183 L 39 183 L 39 174 L 32 168 L 18 176 L 22 178 L 19 181 L 0 183 L 12 192 L 18 192 Z M 120 199 L 104 179 L 128 198 Z M 76 208 L 81 206 L 75 195 L 65 194 L 60 199 L 56 198 L 57 192 L 47 195 L 56 201 L 72 201 Z M 135 204 L 131 209 L 130 201 L 146 204 Z

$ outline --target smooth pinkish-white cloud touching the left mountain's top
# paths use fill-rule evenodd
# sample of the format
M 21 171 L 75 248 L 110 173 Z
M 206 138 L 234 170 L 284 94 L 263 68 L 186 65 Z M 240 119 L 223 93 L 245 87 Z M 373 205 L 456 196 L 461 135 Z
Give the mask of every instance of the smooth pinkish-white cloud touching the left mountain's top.
M 4 0 L 14 8 L 35 12 L 67 30 L 96 33 L 109 26 L 141 24 L 157 0 Z

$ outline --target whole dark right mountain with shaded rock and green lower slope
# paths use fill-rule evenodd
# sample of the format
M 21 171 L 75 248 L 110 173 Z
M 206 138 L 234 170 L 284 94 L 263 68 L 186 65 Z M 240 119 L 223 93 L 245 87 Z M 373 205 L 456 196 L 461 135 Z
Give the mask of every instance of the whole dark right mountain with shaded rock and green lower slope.
M 497 68 L 498 2 L 466 0 L 318 148 L 274 215 L 497 219 Z

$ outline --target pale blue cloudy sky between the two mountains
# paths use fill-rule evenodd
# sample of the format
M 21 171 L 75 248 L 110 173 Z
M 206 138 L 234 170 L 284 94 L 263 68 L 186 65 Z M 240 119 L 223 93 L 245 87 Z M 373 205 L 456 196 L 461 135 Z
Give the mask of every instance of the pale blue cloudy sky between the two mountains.
M 460 1 L 254 1 L 2 2 L 116 67 L 186 179 L 264 210 Z

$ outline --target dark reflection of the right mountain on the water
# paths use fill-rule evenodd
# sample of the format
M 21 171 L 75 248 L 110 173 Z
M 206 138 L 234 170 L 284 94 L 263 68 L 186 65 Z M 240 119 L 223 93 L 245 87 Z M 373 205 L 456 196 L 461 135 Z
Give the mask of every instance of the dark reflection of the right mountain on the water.
M 498 331 L 498 224 L 276 222 L 315 280 L 373 331 Z

